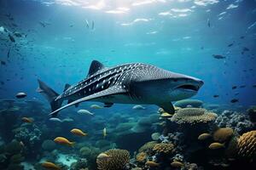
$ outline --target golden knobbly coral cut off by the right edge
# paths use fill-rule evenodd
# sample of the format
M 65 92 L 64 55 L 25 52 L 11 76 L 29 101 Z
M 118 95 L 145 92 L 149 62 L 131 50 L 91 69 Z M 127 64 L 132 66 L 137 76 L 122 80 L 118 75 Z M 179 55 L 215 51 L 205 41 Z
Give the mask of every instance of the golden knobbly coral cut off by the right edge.
M 256 130 L 243 133 L 238 139 L 238 156 L 253 160 L 256 156 Z

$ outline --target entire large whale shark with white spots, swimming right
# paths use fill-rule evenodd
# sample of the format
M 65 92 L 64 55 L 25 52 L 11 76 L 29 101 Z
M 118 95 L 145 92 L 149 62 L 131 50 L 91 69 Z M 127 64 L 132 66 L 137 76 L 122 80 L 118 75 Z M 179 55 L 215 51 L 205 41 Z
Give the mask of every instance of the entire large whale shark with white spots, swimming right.
M 57 94 L 38 79 L 38 93 L 48 99 L 50 116 L 84 101 L 102 102 L 104 107 L 114 103 L 158 105 L 168 113 L 174 113 L 172 101 L 188 99 L 199 91 L 203 81 L 195 77 L 166 71 L 154 65 L 132 63 L 105 67 L 93 60 L 88 75 L 80 82 L 65 85 Z M 67 100 L 67 105 L 62 105 Z

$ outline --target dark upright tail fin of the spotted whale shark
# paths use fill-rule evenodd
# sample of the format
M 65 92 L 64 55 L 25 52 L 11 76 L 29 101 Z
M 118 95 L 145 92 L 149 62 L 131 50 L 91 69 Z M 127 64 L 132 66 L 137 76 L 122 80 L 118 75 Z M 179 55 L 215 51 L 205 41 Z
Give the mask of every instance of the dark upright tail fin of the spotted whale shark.
M 59 109 L 62 105 L 63 100 L 62 99 L 56 99 L 59 94 L 57 94 L 52 88 L 49 88 L 44 82 L 40 81 L 38 79 L 39 87 L 37 89 L 37 92 L 42 94 L 48 101 L 49 105 L 51 107 L 51 111 L 56 111 Z M 57 116 L 57 112 L 55 114 L 51 115 L 53 117 Z

